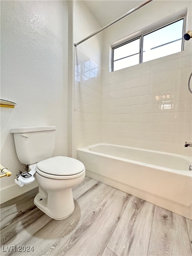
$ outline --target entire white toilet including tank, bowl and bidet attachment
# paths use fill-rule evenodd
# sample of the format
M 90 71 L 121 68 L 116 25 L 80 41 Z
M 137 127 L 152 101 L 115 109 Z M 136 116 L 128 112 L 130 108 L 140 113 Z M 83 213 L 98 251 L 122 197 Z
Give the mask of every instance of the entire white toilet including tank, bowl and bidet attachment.
M 16 176 L 20 185 L 39 184 L 34 204 L 53 219 L 67 218 L 74 211 L 72 187 L 85 178 L 85 167 L 79 160 L 52 157 L 55 149 L 55 126 L 20 127 L 11 129 L 19 161 L 29 171 Z

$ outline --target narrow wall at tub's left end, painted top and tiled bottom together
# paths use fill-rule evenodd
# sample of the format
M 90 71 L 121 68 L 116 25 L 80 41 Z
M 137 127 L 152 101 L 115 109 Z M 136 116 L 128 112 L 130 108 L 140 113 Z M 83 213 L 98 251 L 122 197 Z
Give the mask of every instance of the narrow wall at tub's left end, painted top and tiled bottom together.
M 100 25 L 83 1 L 74 1 L 73 24 L 74 43 L 100 29 Z M 102 33 L 75 48 L 75 157 L 77 148 L 101 142 L 101 68 Z

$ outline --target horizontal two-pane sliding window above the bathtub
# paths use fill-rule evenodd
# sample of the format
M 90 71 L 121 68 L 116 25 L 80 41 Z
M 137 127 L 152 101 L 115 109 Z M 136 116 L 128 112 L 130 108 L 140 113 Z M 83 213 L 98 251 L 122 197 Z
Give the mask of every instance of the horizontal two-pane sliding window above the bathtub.
M 182 51 L 184 18 L 113 48 L 112 71 Z

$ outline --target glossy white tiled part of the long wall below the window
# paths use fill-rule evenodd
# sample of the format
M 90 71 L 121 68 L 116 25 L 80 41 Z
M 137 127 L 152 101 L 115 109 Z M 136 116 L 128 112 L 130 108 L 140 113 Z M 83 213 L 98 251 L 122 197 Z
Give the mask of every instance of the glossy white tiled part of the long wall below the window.
M 176 54 L 103 70 L 102 142 L 191 155 L 191 43 Z M 192 81 L 191 81 L 192 87 Z

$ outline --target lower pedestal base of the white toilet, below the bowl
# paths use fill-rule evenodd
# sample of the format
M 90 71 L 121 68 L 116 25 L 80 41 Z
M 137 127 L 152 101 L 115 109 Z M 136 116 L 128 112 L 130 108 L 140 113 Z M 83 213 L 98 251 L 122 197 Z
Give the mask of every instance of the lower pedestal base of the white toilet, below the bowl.
M 56 220 L 67 218 L 75 209 L 71 188 L 55 191 L 39 186 L 39 193 L 34 198 L 34 204 Z

